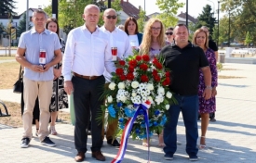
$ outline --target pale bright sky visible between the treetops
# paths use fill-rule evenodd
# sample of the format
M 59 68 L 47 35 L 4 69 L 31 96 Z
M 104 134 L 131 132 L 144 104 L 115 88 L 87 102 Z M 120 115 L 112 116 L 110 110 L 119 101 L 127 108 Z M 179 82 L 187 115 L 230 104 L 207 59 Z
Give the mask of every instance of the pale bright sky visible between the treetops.
M 218 9 L 218 0 L 194 0 L 193 2 L 191 0 L 188 1 L 188 13 L 193 17 L 197 17 L 202 12 L 203 6 L 206 6 L 207 4 L 209 4 L 209 6 L 212 8 L 215 7 L 215 11 Z M 26 10 L 26 2 L 27 0 L 17 0 L 17 9 L 15 11 L 19 14 L 24 12 Z M 144 8 L 145 2 L 147 15 L 154 12 L 160 12 L 159 8 L 155 6 L 156 0 L 128 0 L 128 2 L 136 7 L 141 6 L 142 8 Z M 180 0 L 179 2 L 186 3 L 186 0 Z M 51 0 L 29 0 L 29 7 L 37 8 L 38 6 L 47 6 L 49 4 L 51 4 Z M 185 11 L 186 6 L 183 6 L 178 10 L 178 14 Z M 224 15 L 224 13 L 220 15 L 220 18 L 222 18 L 222 15 Z M 215 17 L 217 18 L 217 16 L 218 15 L 216 11 Z

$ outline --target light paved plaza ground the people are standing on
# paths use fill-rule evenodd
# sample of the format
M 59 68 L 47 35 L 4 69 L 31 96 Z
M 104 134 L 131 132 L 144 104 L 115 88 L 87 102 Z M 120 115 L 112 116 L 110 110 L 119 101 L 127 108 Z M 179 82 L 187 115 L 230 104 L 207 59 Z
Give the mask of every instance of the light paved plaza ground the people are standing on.
M 256 163 L 256 65 L 223 64 L 219 72 L 222 76 L 240 77 L 236 79 L 219 79 L 217 88 L 216 122 L 209 122 L 206 150 L 199 150 L 198 162 L 206 163 Z M 11 90 L 0 90 L 0 99 L 20 102 L 20 94 L 12 94 Z M 1 118 L 0 118 L 1 119 Z M 198 128 L 200 129 L 200 121 Z M 34 132 L 35 132 L 35 128 Z M 74 162 L 74 126 L 58 123 L 56 136 L 50 138 L 56 147 L 41 145 L 37 137 L 31 141 L 29 148 L 20 148 L 22 128 L 11 128 L 0 124 L 0 162 L 1 163 L 65 163 Z M 200 135 L 200 130 L 198 130 Z M 190 162 L 185 153 L 185 129 L 182 114 L 178 128 L 177 152 L 173 160 L 164 159 L 163 150 L 157 146 L 155 135 L 151 140 L 150 157 L 153 163 Z M 99 162 L 91 157 L 91 138 L 88 137 L 88 153 L 84 162 Z M 101 148 L 106 157 L 105 162 L 111 162 L 117 154 L 117 149 L 104 141 Z M 128 141 L 124 163 L 146 163 L 147 148 L 141 141 Z

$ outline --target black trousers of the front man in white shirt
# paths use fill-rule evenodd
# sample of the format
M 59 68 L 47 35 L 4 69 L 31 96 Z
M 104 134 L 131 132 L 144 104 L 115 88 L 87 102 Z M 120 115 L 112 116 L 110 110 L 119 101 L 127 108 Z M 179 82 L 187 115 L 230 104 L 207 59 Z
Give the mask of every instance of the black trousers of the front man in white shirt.
M 101 94 L 104 91 L 105 78 L 86 80 L 80 77 L 73 77 L 74 85 L 74 146 L 78 152 L 87 152 L 88 143 L 88 122 L 91 113 L 91 151 L 101 151 L 101 130 L 102 120 L 99 122 L 97 117 L 101 116 Z

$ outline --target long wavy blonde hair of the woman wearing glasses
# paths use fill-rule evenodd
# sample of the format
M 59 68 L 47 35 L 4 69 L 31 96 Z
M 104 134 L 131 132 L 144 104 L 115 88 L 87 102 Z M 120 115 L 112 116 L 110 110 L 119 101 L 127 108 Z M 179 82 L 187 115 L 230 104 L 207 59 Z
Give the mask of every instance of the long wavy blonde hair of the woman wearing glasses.
M 143 39 L 140 46 L 140 54 L 147 54 L 149 55 L 149 51 L 152 44 L 152 34 L 151 34 L 151 27 L 155 22 L 160 22 L 161 24 L 161 31 L 159 35 L 157 36 L 157 43 L 160 45 L 160 47 L 164 47 L 166 45 L 166 39 L 165 39 L 165 27 L 164 24 L 160 19 L 149 19 L 145 25 L 144 33 L 143 33 Z

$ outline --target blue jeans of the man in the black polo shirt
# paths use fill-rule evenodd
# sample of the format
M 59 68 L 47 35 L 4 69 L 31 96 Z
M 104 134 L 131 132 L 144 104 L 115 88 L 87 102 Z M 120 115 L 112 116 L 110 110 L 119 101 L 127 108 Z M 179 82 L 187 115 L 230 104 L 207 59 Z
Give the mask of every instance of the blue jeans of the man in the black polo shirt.
M 184 125 L 186 129 L 186 153 L 196 156 L 198 149 L 196 142 L 198 138 L 198 95 L 174 95 L 178 101 L 177 105 L 170 106 L 168 109 L 168 121 L 164 128 L 164 152 L 173 155 L 177 150 L 177 123 L 182 111 Z

